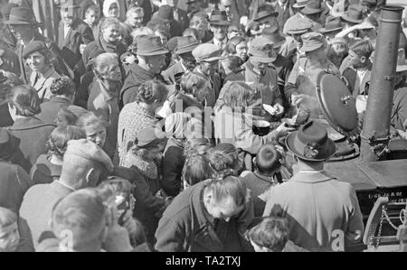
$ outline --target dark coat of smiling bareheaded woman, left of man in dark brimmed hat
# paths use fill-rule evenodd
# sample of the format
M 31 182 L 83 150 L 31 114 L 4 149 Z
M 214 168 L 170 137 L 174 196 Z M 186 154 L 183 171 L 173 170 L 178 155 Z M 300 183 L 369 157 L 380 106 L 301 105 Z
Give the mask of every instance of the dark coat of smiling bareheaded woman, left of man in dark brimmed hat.
M 99 38 L 90 42 L 88 46 L 86 46 L 82 54 L 82 61 L 86 67 L 88 66 L 89 61 L 95 59 L 99 54 L 102 54 L 103 52 L 115 52 L 118 54 L 118 62 L 120 62 L 120 55 L 126 51 L 126 46 L 122 42 L 118 42 L 116 46 L 113 46 L 102 41 L 102 38 Z

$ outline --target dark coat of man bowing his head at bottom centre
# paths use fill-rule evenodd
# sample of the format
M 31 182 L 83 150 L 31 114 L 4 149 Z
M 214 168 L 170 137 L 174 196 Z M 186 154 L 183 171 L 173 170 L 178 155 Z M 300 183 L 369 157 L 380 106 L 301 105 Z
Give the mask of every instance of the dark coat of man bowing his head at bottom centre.
M 250 251 L 241 235 L 253 219 L 252 200 L 239 216 L 229 222 L 213 219 L 203 202 L 200 182 L 183 191 L 169 205 L 156 230 L 158 252 L 237 252 Z

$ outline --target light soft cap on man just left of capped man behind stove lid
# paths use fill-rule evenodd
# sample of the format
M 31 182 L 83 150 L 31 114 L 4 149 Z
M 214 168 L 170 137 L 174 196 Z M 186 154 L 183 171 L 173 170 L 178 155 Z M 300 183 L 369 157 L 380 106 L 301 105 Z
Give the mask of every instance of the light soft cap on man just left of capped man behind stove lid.
M 277 54 L 274 52 L 272 42 L 268 38 L 260 36 L 251 41 L 249 57 L 260 63 L 271 63 L 276 61 Z

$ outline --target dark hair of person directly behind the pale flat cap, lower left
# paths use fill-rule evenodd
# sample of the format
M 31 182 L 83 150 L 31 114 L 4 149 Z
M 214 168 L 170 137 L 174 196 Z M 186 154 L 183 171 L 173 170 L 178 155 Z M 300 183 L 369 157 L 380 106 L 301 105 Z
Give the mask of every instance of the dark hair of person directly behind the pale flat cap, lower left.
M 62 159 L 69 141 L 84 138 L 86 135 L 78 126 L 58 126 L 52 131 L 46 145 L 50 153 Z

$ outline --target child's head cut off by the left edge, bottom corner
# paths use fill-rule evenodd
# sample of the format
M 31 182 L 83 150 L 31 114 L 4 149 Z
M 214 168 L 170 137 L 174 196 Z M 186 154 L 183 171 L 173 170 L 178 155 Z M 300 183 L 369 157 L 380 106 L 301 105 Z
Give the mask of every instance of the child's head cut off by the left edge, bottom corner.
M 20 242 L 17 215 L 0 207 L 0 252 L 14 252 Z

